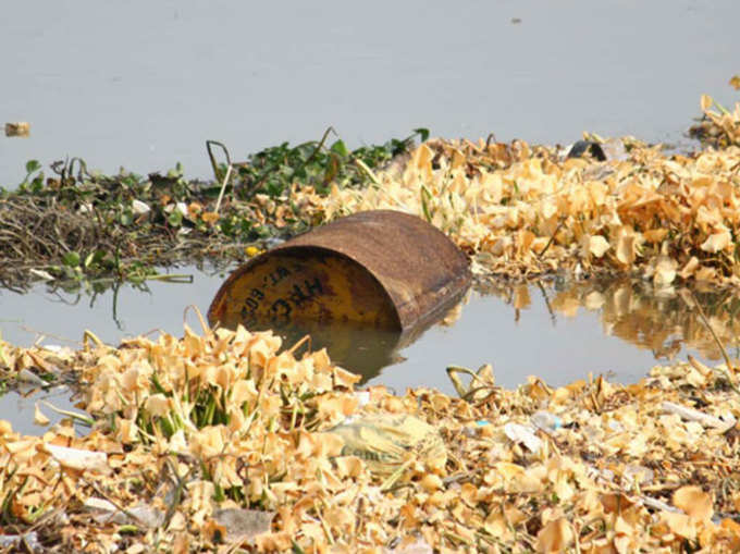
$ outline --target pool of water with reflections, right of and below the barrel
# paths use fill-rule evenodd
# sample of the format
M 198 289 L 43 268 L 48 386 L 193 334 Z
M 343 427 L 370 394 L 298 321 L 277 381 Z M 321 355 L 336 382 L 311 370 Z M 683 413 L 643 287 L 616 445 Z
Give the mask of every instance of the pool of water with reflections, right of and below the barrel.
M 398 392 L 431 386 L 454 394 L 445 368 L 483 364 L 493 365 L 497 383 L 506 387 L 528 376 L 562 385 L 589 373 L 630 383 L 654 365 L 689 354 L 715 365 L 723 359 L 694 297 L 737 357 L 740 296 L 655 291 L 629 280 L 479 286 L 410 344 L 398 335 L 337 328 L 313 334 L 313 345 L 326 346 L 333 359 L 362 373 L 366 382 Z M 299 335 L 294 330 L 291 341 Z

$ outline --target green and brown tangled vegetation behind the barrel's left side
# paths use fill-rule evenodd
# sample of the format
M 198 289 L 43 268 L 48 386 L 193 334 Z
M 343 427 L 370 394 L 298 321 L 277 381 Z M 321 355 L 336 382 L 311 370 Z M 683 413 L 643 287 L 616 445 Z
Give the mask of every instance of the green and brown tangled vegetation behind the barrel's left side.
M 163 175 L 103 175 L 78 158 L 51 172 L 30 160 L 16 189 L 0 187 L 0 284 L 141 283 L 159 278 L 157 267 L 242 258 L 255 242 L 310 226 L 289 201 L 292 188 L 322 195 L 331 185 L 362 186 L 428 135 L 416 130 L 349 150 L 342 139 L 325 146 L 328 131 L 321 140 L 284 143 L 235 164 L 223 145 L 226 163 L 217 163 L 211 147 L 219 143 L 209 141 L 215 181 L 188 180 L 180 164 Z

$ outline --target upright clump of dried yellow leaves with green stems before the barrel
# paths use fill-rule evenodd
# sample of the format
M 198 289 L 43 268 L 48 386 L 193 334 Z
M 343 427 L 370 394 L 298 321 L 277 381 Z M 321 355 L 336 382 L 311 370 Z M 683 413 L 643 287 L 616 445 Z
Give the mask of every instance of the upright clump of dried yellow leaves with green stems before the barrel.
M 332 366 L 325 350 L 296 359 L 280 347 L 272 332 L 243 327 L 127 341 L 122 355 L 91 369 L 87 409 L 104 416 L 122 444 L 197 456 L 217 497 L 274 507 L 267 484 L 285 473 L 275 456 L 301 433 L 350 415 L 357 399 L 337 391 L 359 379 Z

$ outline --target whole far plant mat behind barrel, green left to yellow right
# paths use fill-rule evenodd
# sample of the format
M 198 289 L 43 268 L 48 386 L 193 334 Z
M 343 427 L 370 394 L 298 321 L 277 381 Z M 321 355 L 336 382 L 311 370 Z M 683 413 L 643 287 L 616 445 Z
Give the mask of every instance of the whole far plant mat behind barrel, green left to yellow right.
M 668 153 L 632 137 L 604 141 L 606 159 L 494 140 L 412 138 L 359 148 L 281 145 L 244 163 L 219 164 L 219 181 L 182 169 L 100 176 L 72 160 L 46 178 L 37 163 L 17 192 L 0 196 L 0 281 L 143 281 L 153 264 L 242 258 L 255 241 L 285 236 L 343 214 L 396 209 L 422 217 L 472 258 L 480 275 L 565 270 L 638 273 L 655 284 L 740 282 L 740 104 L 704 97 L 702 128 L 715 149 Z M 607 148 L 609 146 L 609 148 Z M 392 158 L 394 156 L 394 158 Z M 602 157 L 600 157 L 602 158 Z M 246 249 L 246 250 L 245 250 Z

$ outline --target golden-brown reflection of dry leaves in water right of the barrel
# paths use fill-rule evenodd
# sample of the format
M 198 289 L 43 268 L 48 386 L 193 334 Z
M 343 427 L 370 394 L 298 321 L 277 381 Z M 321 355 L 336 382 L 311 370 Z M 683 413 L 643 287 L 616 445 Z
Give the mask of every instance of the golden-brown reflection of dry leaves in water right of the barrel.
M 719 345 L 693 307 L 692 295 L 725 348 L 739 346 L 740 296 L 732 291 L 668 287 L 655 290 L 638 280 L 590 280 L 575 283 L 503 285 L 488 284 L 479 292 L 504 298 L 520 310 L 531 305 L 530 295 L 540 290 L 555 322 L 558 316 L 575 318 L 583 308 L 599 312 L 604 334 L 617 336 L 656 359 L 671 360 L 681 348 L 691 348 L 710 360 L 721 359 Z

